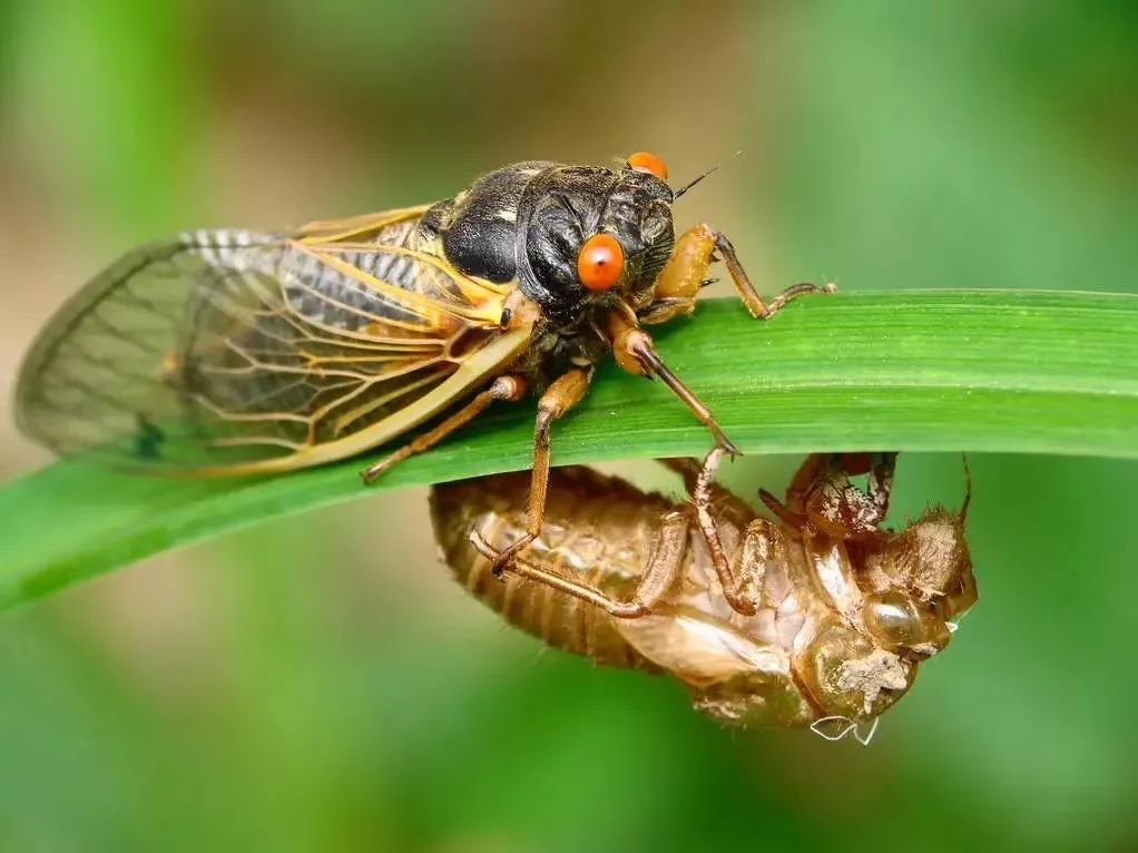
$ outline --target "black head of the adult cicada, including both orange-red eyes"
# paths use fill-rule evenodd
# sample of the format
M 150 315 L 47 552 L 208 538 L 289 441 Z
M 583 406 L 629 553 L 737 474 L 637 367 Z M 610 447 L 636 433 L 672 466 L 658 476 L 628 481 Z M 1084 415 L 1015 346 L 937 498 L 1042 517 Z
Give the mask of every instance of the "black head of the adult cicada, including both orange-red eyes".
M 632 155 L 619 172 L 550 169 L 527 187 L 519 210 L 519 285 L 561 324 L 617 299 L 640 305 L 675 245 L 674 199 L 652 155 Z

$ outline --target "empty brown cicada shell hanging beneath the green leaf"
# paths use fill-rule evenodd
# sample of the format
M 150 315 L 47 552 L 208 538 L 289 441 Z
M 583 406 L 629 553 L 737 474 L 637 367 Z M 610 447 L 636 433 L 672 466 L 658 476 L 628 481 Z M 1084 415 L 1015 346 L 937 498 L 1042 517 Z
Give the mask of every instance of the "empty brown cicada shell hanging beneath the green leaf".
M 596 663 L 667 673 L 732 726 L 811 727 L 867 740 L 976 602 L 958 512 L 883 527 L 896 454 L 816 454 L 758 515 L 701 466 L 668 461 L 675 504 L 586 467 L 553 472 L 546 524 L 526 539 L 526 479 L 436 486 L 440 558 L 473 595 L 545 643 Z M 855 485 L 851 477 L 865 477 Z

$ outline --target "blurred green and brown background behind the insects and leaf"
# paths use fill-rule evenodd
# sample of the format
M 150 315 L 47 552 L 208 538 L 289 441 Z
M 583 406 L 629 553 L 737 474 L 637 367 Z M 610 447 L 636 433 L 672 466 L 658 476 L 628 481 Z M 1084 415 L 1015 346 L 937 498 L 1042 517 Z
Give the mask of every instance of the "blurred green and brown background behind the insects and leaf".
M 517 159 L 725 162 L 677 218 L 766 290 L 1138 289 L 1136 9 L 0 2 L 0 471 L 47 461 L 10 426 L 22 350 L 119 251 Z M 1133 850 L 1138 466 L 972 464 L 980 605 L 872 748 L 543 652 L 405 490 L 0 619 L 0 850 Z M 955 505 L 958 457 L 902 457 L 899 489 L 898 516 Z

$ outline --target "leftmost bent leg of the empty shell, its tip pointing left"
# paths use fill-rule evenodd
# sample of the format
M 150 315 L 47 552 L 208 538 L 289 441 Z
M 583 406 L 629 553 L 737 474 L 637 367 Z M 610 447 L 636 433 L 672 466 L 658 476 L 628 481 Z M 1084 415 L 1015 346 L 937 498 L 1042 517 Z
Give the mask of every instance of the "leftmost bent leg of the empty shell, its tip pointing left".
M 655 548 L 644 568 L 644 574 L 641 575 L 640 582 L 636 585 L 636 593 L 627 602 L 618 601 L 587 583 L 544 569 L 523 556 L 511 557 L 505 571 L 538 583 L 545 583 L 561 593 L 588 602 L 611 616 L 635 619 L 651 613 L 652 608 L 676 582 L 687 548 L 688 525 L 688 519 L 682 512 L 671 512 L 663 516 Z M 470 544 L 483 556 L 493 561 L 495 565 L 502 562 L 502 557 L 506 553 L 490 547 L 477 530 L 471 531 Z

